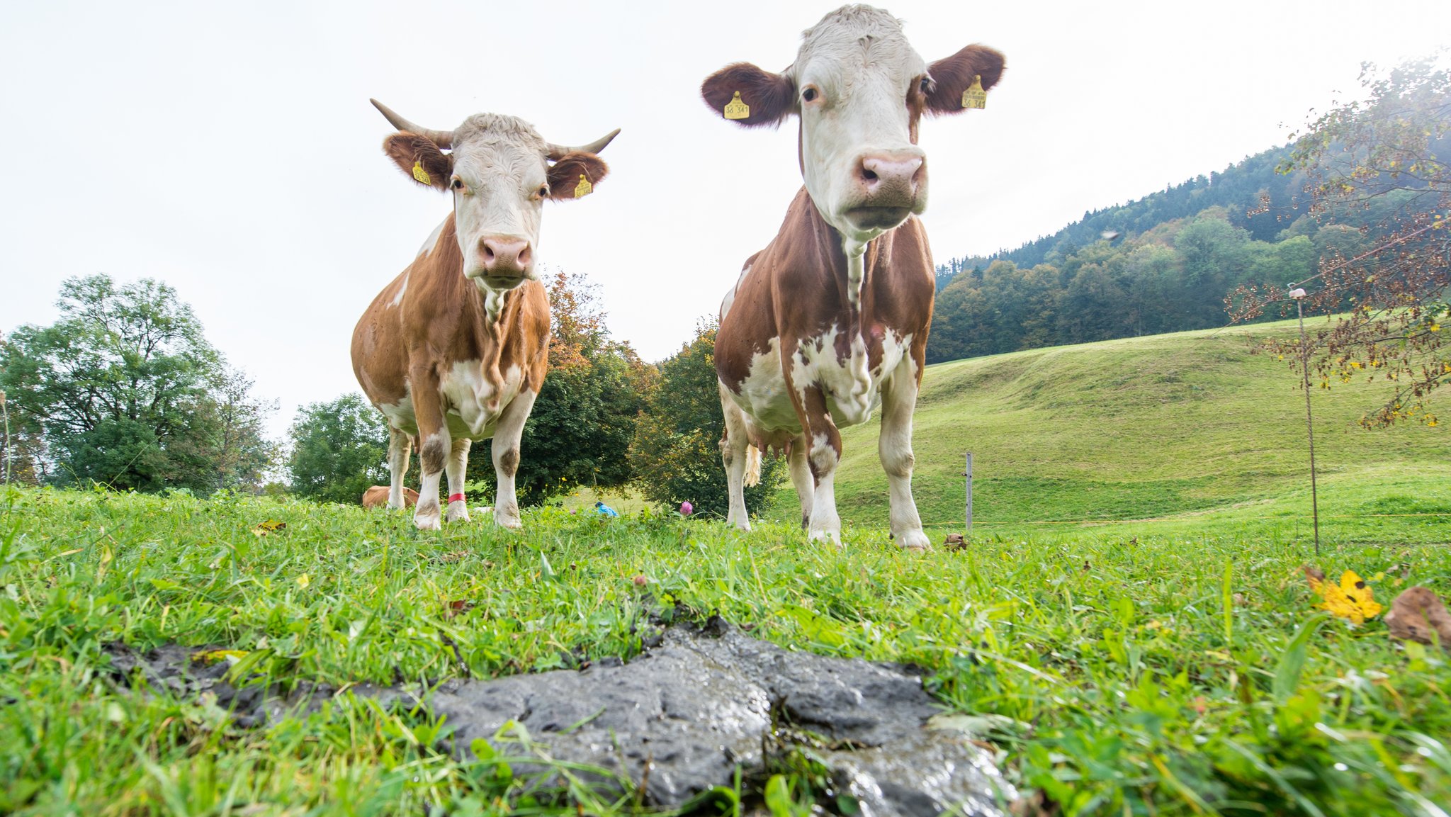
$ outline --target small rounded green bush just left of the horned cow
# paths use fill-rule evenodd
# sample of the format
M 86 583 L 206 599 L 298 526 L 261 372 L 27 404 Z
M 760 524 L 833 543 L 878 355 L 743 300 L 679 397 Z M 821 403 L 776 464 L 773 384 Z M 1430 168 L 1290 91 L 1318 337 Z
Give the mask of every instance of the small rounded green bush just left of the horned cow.
M 387 424 L 363 395 L 302 406 L 287 435 L 287 476 L 297 496 L 355 505 L 370 486 L 389 483 Z M 411 467 L 418 485 L 416 461 Z

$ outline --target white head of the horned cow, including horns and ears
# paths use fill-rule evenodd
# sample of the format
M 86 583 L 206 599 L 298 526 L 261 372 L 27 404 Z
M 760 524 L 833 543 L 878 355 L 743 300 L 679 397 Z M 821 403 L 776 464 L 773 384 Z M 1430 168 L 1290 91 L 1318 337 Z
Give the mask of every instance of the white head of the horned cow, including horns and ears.
M 577 199 L 599 184 L 609 167 L 596 154 L 620 134 L 569 148 L 515 116 L 476 113 L 453 131 L 432 131 L 373 104 L 398 128 L 383 152 L 419 184 L 453 192 L 463 274 L 486 292 L 538 279 L 544 199 Z

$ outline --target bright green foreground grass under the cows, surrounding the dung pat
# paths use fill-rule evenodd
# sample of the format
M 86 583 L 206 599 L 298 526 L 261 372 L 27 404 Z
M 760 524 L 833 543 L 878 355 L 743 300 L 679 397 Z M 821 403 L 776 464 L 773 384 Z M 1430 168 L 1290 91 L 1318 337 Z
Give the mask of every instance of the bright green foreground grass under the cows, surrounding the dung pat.
M 1362 488 L 1376 506 L 1445 509 L 1447 486 L 1442 472 Z M 1303 528 L 1258 512 L 904 554 L 876 528 L 837 551 L 786 525 L 547 508 L 522 534 L 239 496 L 7 489 L 0 508 L 0 813 L 636 811 L 460 762 L 425 711 L 341 695 L 247 728 L 131 689 L 109 644 L 247 650 L 238 668 L 283 685 L 440 681 L 460 660 L 477 678 L 630 659 L 670 604 L 921 665 L 1064 814 L 1432 816 L 1451 800 L 1445 657 L 1378 618 L 1315 611 Z M 286 527 L 257 535 L 270 520 Z M 1413 583 L 1451 595 L 1445 518 L 1423 520 L 1381 518 L 1373 537 L 1329 520 L 1318 563 L 1358 570 L 1383 602 Z

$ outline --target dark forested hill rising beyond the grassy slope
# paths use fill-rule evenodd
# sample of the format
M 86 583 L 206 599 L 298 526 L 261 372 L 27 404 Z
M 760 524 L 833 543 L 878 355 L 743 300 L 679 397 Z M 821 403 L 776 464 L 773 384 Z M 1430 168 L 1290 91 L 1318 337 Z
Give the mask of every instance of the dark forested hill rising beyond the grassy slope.
M 1300 282 L 1322 257 L 1373 247 L 1376 229 L 1361 228 L 1406 196 L 1316 221 L 1304 174 L 1275 173 L 1287 149 L 1084 213 L 1017 250 L 939 266 L 927 361 L 1223 327 L 1225 297 L 1241 284 Z M 1432 152 L 1451 154 L 1451 136 Z

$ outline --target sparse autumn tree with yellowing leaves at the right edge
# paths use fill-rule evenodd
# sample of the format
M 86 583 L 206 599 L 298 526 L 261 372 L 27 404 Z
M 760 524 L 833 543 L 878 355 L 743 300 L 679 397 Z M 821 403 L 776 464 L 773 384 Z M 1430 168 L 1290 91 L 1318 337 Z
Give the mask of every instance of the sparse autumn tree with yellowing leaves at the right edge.
M 1280 164 L 1303 174 L 1323 223 L 1319 273 L 1287 280 L 1303 284 L 1312 312 L 1348 312 L 1316 331 L 1307 350 L 1268 345 L 1307 366 L 1323 387 L 1360 377 L 1390 383 L 1365 425 L 1435 425 L 1429 401 L 1451 380 L 1451 67 L 1441 57 L 1390 71 L 1365 64 L 1367 97 L 1312 120 Z M 1235 316 L 1287 311 L 1286 289 L 1236 292 Z

